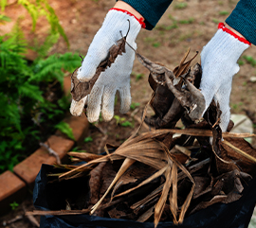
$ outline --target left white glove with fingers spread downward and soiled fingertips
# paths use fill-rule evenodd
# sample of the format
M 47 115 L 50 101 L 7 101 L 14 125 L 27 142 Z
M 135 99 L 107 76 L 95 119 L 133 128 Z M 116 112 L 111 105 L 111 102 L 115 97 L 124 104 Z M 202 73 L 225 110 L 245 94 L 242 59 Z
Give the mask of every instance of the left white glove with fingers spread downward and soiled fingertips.
M 109 48 L 116 44 L 122 36 L 125 36 L 130 21 L 130 31 L 126 41 L 135 49 L 137 34 L 143 26 L 133 14 L 122 9 L 110 9 L 103 25 L 95 35 L 88 52 L 82 61 L 82 67 L 78 70 L 77 78 L 88 81 L 95 75 L 101 61 L 105 60 Z M 86 114 L 89 122 L 99 119 L 100 113 L 104 121 L 109 121 L 114 115 L 114 103 L 116 92 L 120 96 L 120 113 L 127 113 L 131 105 L 130 74 L 132 73 L 135 52 L 126 44 L 125 53 L 119 55 L 110 67 L 101 73 L 94 84 L 90 95 L 85 96 L 79 102 L 72 100 L 70 112 L 73 115 L 82 114 L 84 104 L 87 104 Z

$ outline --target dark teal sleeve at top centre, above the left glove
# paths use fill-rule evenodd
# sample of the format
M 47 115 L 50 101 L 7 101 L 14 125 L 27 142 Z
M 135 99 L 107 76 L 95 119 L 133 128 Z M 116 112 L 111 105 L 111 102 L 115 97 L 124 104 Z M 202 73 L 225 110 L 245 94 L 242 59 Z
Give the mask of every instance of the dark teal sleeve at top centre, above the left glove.
M 136 9 L 145 19 L 146 29 L 155 27 L 173 0 L 122 0 Z

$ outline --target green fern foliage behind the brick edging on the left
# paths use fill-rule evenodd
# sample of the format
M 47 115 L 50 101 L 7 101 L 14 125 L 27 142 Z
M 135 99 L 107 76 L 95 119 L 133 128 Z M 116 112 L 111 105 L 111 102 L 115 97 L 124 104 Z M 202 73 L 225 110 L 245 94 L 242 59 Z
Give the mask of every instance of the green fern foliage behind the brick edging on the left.
M 7 4 L 1 0 L 0 24 L 10 21 L 5 15 Z M 27 9 L 32 31 L 41 16 L 46 17 L 50 30 L 40 46 L 28 46 L 19 20 L 9 34 L 0 36 L 0 173 L 12 170 L 56 128 L 72 138 L 69 126 L 60 125 L 70 104 L 70 97 L 64 94 L 64 76 L 81 64 L 77 54 L 48 56 L 60 36 L 69 44 L 47 0 L 18 0 L 15 4 Z M 29 49 L 37 53 L 34 61 L 26 58 Z

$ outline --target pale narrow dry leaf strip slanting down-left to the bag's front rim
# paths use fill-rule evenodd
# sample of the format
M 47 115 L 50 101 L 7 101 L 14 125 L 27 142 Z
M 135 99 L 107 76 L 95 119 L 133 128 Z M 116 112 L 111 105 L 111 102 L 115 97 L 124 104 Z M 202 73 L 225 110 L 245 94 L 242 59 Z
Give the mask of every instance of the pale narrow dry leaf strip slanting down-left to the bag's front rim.
M 123 161 L 123 164 L 121 165 L 121 167 L 119 168 L 119 172 L 117 173 L 115 179 L 113 180 L 113 182 L 109 185 L 108 189 L 106 190 L 106 192 L 104 193 L 104 195 L 101 197 L 101 200 L 99 202 L 97 202 L 92 208 L 91 208 L 91 212 L 90 214 L 92 215 L 97 208 L 100 206 L 101 202 L 104 200 L 104 198 L 106 197 L 106 195 L 109 193 L 109 191 L 111 190 L 111 188 L 117 183 L 117 181 L 119 180 L 119 177 L 127 170 L 128 167 L 131 167 L 136 161 L 133 159 L 129 159 L 126 158 Z

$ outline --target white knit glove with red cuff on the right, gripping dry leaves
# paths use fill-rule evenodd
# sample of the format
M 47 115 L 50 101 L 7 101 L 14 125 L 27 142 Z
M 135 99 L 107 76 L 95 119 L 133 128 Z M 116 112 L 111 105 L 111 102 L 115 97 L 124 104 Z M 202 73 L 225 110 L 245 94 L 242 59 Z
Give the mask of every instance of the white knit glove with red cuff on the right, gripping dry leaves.
M 204 113 L 214 98 L 222 112 L 220 127 L 223 132 L 227 131 L 229 125 L 229 96 L 232 78 L 239 71 L 237 61 L 249 45 L 247 40 L 220 24 L 218 31 L 201 53 L 203 75 L 200 90 L 206 101 Z

